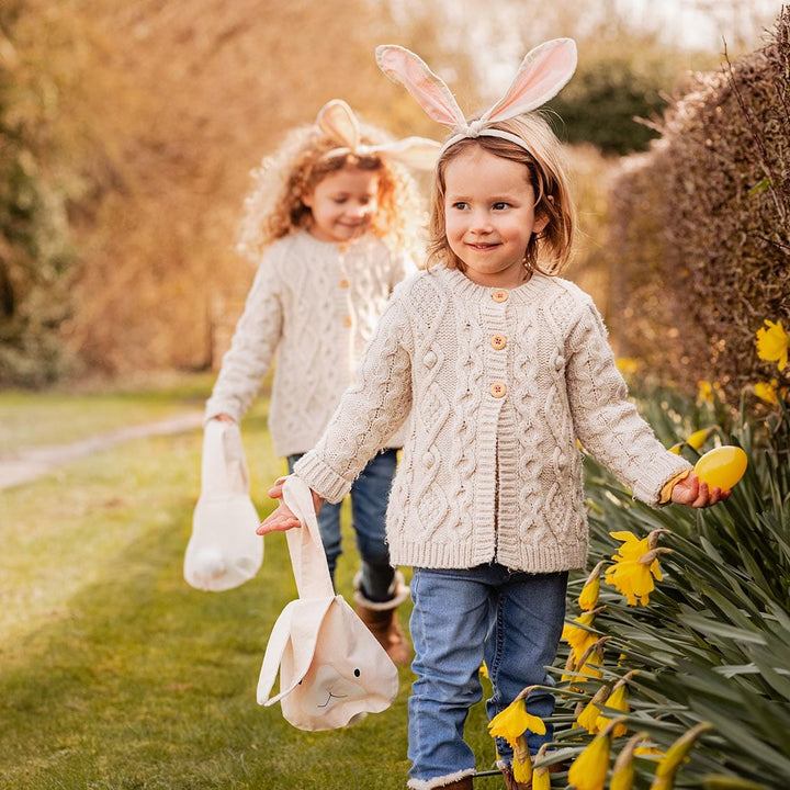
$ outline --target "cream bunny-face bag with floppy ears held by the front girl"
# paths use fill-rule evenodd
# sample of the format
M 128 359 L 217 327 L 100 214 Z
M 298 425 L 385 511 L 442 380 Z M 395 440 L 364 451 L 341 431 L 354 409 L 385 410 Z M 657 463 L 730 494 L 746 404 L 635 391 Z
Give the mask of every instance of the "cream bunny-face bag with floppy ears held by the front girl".
M 300 730 L 334 730 L 386 710 L 397 668 L 375 636 L 335 595 L 309 488 L 285 479 L 283 499 L 302 522 L 286 532 L 298 598 L 272 629 L 258 680 L 258 704 L 280 702 Z M 280 673 L 280 692 L 270 697 Z

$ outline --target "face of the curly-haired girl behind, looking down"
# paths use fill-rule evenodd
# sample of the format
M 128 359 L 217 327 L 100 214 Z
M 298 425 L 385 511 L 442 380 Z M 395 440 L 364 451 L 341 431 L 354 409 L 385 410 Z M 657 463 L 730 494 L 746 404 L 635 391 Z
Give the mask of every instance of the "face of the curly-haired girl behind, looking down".
M 377 194 L 375 170 L 347 166 L 329 173 L 302 196 L 313 215 L 308 232 L 321 241 L 336 244 L 359 238 L 373 222 Z

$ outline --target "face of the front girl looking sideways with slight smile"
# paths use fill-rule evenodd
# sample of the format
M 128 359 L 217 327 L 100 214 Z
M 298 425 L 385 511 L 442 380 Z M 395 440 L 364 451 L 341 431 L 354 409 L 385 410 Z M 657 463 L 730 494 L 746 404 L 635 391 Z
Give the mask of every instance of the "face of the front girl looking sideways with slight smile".
M 478 285 L 516 287 L 524 281 L 527 245 L 546 225 L 524 165 L 473 146 L 444 170 L 444 223 L 452 251 Z

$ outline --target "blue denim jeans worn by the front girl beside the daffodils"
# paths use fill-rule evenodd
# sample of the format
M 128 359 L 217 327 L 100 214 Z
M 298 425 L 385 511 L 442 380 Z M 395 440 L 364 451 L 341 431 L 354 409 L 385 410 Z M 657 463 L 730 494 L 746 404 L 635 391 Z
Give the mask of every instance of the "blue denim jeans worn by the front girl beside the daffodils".
M 410 787 L 435 787 L 433 779 L 472 774 L 475 756 L 464 743 L 469 709 L 483 696 L 479 667 L 485 659 L 493 686 L 489 719 L 505 710 L 527 686 L 552 686 L 545 666 L 554 661 L 565 618 L 567 573 L 527 574 L 492 563 L 469 569 L 415 568 L 411 579 L 413 669 L 408 701 Z M 528 710 L 541 718 L 554 710 L 549 691 L 535 690 Z M 528 732 L 534 754 L 546 734 Z M 504 764 L 512 749 L 496 740 Z

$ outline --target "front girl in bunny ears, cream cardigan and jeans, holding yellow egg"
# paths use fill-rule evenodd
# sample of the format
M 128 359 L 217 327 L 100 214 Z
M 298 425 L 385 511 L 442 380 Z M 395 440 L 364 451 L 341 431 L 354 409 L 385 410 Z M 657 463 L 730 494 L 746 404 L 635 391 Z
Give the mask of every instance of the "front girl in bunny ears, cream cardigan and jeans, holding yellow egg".
M 433 266 L 395 291 L 357 383 L 295 474 L 317 505 L 337 500 L 411 413 L 387 511 L 392 560 L 414 566 L 408 786 L 471 790 L 463 729 L 481 662 L 489 718 L 527 687 L 551 686 L 567 574 L 587 555 L 577 442 L 655 506 L 702 507 L 726 492 L 656 440 L 591 300 L 557 276 L 574 211 L 560 144 L 534 110 L 571 78 L 574 42 L 528 54 L 505 98 L 471 122 L 417 56 L 385 46 L 377 58 L 453 129 L 435 171 Z M 281 504 L 259 532 L 296 526 Z M 527 707 L 545 720 L 553 697 L 533 690 Z M 524 735 L 534 755 L 550 723 Z M 530 787 L 510 745 L 497 738 L 497 752 L 509 790 Z

